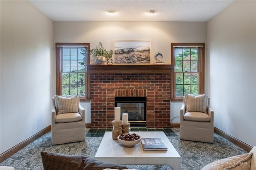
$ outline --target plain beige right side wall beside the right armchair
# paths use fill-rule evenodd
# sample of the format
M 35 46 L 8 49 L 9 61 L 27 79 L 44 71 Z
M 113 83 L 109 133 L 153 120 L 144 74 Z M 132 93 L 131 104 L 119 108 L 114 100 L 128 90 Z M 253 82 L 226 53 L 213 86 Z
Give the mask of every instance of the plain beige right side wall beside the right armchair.
M 256 145 L 256 1 L 236 1 L 207 23 L 206 92 L 214 126 Z

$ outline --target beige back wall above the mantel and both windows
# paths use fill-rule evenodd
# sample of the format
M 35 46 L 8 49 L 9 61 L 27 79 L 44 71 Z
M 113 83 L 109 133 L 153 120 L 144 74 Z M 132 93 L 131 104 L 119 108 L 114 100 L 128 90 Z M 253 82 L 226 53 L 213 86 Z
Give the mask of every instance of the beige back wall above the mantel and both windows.
M 54 43 L 99 42 L 113 49 L 114 40 L 150 40 L 152 62 L 160 52 L 170 64 L 171 43 L 206 43 L 206 22 L 54 22 Z

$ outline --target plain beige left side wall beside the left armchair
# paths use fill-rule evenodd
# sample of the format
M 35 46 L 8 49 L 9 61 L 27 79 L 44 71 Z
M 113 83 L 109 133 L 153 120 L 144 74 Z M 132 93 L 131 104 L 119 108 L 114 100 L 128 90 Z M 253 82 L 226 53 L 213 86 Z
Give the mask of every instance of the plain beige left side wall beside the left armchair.
M 50 125 L 53 21 L 28 1 L 1 3 L 0 153 Z

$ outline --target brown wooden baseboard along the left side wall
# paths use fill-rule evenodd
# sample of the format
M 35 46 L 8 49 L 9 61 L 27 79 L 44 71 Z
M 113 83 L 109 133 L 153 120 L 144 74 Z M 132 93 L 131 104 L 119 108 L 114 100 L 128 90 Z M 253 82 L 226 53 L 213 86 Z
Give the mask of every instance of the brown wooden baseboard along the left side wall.
M 51 131 L 51 129 L 52 129 L 52 126 L 49 125 L 48 127 L 44 128 L 42 131 L 36 133 L 35 135 L 31 136 L 30 138 L 26 139 L 25 141 L 22 141 L 21 143 L 12 147 L 11 149 L 6 150 L 2 154 L 0 154 L 0 163 L 3 162 L 4 160 L 6 160 L 7 158 L 9 158 L 10 156 L 12 156 L 13 154 L 15 154 L 16 152 L 18 152 L 19 150 L 23 149 L 28 144 L 32 143 L 33 141 L 35 141 L 36 139 L 38 139 L 42 135 Z

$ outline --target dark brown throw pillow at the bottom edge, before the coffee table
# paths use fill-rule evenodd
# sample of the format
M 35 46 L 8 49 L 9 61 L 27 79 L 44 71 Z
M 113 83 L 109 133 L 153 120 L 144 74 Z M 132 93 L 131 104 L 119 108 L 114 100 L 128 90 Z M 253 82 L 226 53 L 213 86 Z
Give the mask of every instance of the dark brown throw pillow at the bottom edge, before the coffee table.
M 103 170 L 105 168 L 128 169 L 125 166 L 102 162 L 86 156 L 69 156 L 60 153 L 41 152 L 44 170 Z

